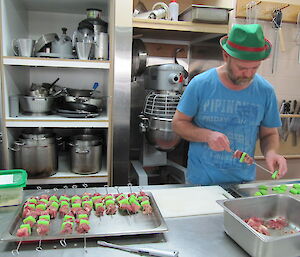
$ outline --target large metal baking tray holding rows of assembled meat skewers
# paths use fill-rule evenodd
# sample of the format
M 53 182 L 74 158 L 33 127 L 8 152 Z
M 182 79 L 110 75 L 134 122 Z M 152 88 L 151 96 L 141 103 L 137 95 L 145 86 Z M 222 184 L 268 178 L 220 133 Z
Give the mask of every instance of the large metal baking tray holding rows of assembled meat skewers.
M 126 192 L 124 192 L 126 193 Z M 59 215 L 50 221 L 50 231 L 46 236 L 39 236 L 35 229 L 32 234 L 26 238 L 16 236 L 16 232 L 22 224 L 22 210 L 23 205 L 19 208 L 16 217 L 8 227 L 8 231 L 1 235 L 3 241 L 20 241 L 24 240 L 39 241 L 39 240 L 56 240 L 56 239 L 71 239 L 71 238 L 98 238 L 108 236 L 124 236 L 124 235 L 139 235 L 139 234 L 156 234 L 166 232 L 167 225 L 162 217 L 160 210 L 150 192 L 146 192 L 150 198 L 150 204 L 153 213 L 149 215 L 142 214 L 141 212 L 131 215 L 122 215 L 117 211 L 115 215 L 106 215 L 97 217 L 92 211 L 89 221 L 91 230 L 86 234 L 79 234 L 75 228 L 72 234 L 60 234 L 62 218 Z M 36 195 L 32 195 L 36 196 Z M 30 196 L 29 196 L 30 197 Z

